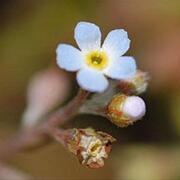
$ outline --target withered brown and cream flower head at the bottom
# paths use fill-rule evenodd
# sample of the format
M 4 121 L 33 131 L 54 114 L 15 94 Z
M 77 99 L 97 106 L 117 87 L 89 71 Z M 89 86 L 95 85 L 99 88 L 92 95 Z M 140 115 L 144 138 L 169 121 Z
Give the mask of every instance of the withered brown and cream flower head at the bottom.
M 108 158 L 114 141 L 109 134 L 91 128 L 74 129 L 67 146 L 81 164 L 89 168 L 100 168 L 104 166 L 104 159 Z

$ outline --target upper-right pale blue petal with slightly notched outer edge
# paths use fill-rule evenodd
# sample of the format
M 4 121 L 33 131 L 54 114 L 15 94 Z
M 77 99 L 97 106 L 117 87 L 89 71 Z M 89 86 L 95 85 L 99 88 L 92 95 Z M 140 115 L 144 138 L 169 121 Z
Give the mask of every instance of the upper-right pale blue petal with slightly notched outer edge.
M 112 30 L 104 40 L 102 47 L 116 57 L 122 56 L 130 47 L 127 32 L 123 29 Z

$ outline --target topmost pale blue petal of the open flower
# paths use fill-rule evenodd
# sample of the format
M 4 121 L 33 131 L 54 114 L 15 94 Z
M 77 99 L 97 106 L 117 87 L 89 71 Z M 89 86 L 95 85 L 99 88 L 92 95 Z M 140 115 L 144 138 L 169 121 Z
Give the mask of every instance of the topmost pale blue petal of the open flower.
M 74 38 L 81 50 L 98 49 L 101 45 L 101 31 L 92 23 L 79 22 L 75 27 Z

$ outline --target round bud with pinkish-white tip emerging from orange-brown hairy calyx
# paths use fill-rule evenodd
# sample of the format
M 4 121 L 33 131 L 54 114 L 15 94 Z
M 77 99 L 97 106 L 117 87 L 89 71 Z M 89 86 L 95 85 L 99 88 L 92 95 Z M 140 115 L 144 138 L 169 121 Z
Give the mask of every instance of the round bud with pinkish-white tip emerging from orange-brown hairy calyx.
M 138 96 L 118 94 L 107 106 L 107 116 L 119 127 L 127 127 L 145 115 L 146 106 Z

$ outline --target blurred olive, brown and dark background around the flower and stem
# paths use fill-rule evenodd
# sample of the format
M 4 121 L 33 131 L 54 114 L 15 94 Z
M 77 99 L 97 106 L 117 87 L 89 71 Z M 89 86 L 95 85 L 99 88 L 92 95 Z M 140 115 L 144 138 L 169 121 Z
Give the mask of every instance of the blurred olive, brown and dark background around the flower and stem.
M 32 75 L 56 66 L 58 43 L 76 45 L 79 21 L 98 24 L 103 37 L 116 28 L 128 31 L 128 54 L 151 75 L 143 95 L 147 114 L 125 129 L 94 116 L 77 117 L 69 125 L 93 126 L 118 139 L 102 169 L 82 167 L 56 143 L 19 154 L 11 164 L 40 179 L 180 179 L 179 0 L 1 0 L 0 141 L 20 126 Z

